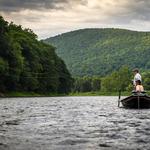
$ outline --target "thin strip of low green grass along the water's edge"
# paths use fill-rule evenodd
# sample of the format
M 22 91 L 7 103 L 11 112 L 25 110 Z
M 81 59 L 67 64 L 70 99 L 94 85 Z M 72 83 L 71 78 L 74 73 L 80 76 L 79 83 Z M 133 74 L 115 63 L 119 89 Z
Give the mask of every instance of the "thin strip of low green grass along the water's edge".
M 150 91 L 147 91 L 150 94 Z M 61 97 L 61 96 L 118 96 L 118 92 L 76 92 L 69 94 L 57 94 L 57 93 L 35 93 L 35 92 L 9 92 L 0 93 L 1 98 L 13 98 L 13 97 Z M 131 92 L 121 92 L 121 96 L 129 96 Z

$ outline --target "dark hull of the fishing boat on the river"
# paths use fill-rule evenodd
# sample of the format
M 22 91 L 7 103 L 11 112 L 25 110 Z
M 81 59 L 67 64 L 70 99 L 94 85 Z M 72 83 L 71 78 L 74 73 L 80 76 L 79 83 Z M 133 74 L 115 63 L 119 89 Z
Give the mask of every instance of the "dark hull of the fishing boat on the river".
M 141 95 L 132 95 L 121 100 L 125 108 L 150 108 L 150 97 Z

